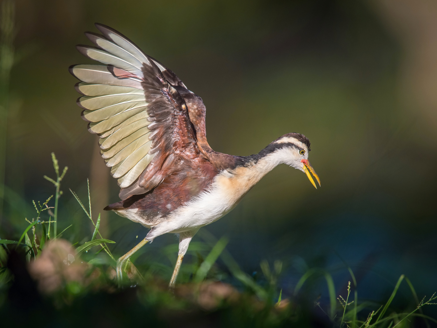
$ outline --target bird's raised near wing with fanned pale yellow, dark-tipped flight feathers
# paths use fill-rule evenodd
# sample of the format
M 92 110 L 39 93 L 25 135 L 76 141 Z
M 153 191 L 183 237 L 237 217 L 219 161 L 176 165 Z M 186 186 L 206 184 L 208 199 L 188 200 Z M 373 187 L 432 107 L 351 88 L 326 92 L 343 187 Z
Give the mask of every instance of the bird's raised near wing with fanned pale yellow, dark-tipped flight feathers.
M 156 187 L 177 161 L 201 155 L 187 104 L 177 90 L 192 93 L 128 38 L 105 25 L 96 27 L 103 35 L 86 35 L 97 47 L 77 49 L 106 66 L 75 65 L 70 73 L 82 81 L 76 84 L 83 94 L 77 101 L 82 118 L 100 136 L 101 155 L 118 179 L 120 198 L 126 199 Z

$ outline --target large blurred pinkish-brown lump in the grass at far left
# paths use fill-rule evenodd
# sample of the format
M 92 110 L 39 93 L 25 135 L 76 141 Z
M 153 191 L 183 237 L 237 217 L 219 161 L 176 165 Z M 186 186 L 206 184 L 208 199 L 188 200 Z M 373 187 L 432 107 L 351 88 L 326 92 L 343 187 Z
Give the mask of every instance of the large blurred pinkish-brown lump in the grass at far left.
M 29 263 L 29 273 L 42 293 L 53 293 L 65 283 L 83 285 L 89 265 L 80 261 L 76 250 L 64 239 L 50 241 L 41 255 Z

